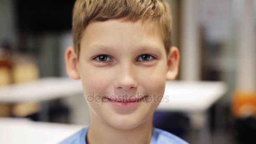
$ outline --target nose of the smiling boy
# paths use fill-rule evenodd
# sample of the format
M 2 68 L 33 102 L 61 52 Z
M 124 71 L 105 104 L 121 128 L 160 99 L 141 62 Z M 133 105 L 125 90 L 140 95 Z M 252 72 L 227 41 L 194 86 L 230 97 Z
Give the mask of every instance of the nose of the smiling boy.
M 135 69 L 132 66 L 121 67 L 116 72 L 115 88 L 123 91 L 137 88 Z

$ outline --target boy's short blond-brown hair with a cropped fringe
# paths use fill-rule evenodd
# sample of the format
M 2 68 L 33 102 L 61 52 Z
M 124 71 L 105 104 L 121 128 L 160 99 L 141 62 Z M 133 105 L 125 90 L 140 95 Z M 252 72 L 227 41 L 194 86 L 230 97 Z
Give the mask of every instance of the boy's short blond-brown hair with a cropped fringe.
M 83 30 L 91 21 L 109 19 L 155 21 L 159 24 L 166 53 L 171 42 L 171 11 L 165 0 L 76 0 L 73 8 L 72 32 L 75 52 L 79 57 Z

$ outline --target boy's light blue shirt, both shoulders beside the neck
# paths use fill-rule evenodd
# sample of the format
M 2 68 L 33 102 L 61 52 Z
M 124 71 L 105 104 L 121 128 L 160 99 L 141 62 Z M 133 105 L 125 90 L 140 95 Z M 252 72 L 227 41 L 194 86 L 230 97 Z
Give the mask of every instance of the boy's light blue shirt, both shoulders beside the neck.
M 72 136 L 68 137 L 60 144 L 86 144 L 85 138 L 88 128 L 83 128 L 77 131 Z M 153 135 L 150 144 L 188 144 L 186 141 L 180 139 L 179 137 L 161 130 L 159 128 L 153 127 Z

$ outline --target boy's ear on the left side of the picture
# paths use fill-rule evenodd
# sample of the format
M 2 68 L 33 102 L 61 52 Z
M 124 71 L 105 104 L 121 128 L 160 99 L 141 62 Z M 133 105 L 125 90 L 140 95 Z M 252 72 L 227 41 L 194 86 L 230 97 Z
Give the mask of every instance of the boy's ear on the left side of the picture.
M 77 54 L 75 53 L 75 48 L 73 46 L 69 46 L 67 48 L 65 53 L 65 61 L 67 75 L 74 80 L 79 80 L 80 74 L 78 71 L 78 59 Z

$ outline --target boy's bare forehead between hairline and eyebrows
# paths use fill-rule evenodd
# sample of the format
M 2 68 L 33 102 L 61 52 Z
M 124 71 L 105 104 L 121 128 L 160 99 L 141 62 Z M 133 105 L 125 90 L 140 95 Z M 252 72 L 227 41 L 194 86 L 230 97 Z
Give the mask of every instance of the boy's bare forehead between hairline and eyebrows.
M 83 31 L 81 51 L 91 45 L 106 45 L 112 48 L 136 48 L 140 45 L 155 45 L 164 49 L 159 25 L 141 21 L 94 21 Z

